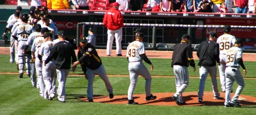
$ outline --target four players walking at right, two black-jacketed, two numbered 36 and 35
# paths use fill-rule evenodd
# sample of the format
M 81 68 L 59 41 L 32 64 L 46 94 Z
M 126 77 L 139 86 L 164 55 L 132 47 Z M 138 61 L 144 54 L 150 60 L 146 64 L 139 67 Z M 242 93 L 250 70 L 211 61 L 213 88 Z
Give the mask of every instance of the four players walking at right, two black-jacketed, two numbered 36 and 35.
M 221 90 L 225 92 L 225 107 L 241 107 L 238 103 L 238 97 L 241 94 L 245 82 L 243 75 L 246 75 L 246 69 L 243 65 L 242 59 L 242 41 L 236 39 L 236 37 L 230 35 L 230 25 L 225 25 L 224 34 L 217 37 L 216 33 L 212 32 L 209 35 L 209 40 L 201 42 L 199 49 L 197 50 L 197 57 L 199 57 L 199 74 L 200 84 L 198 91 L 198 101 L 203 103 L 205 80 L 208 73 L 212 78 L 212 91 L 213 99 L 218 99 L 220 93 L 217 87 L 217 69 L 216 62 L 218 63 L 218 70 L 220 72 Z M 195 61 L 193 61 L 192 48 L 189 45 L 189 35 L 183 35 L 180 44 L 174 46 L 174 53 L 172 55 L 172 64 L 174 68 L 175 81 L 176 81 L 176 93 L 172 96 L 172 99 L 178 105 L 185 104 L 182 99 L 182 93 L 188 87 L 189 73 L 188 66 L 192 66 L 196 71 Z M 243 69 L 243 75 L 239 68 Z M 231 99 L 230 93 L 234 81 L 237 82 L 238 87 Z

